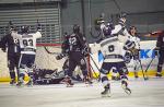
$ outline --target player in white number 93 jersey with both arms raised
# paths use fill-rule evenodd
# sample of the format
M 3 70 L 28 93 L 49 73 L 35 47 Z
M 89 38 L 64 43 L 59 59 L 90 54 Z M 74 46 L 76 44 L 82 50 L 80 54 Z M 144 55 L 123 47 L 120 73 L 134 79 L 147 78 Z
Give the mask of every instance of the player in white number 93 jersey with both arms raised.
M 19 79 L 19 86 L 24 83 L 25 72 L 30 76 L 30 81 L 27 85 L 33 85 L 33 67 L 35 61 L 35 54 L 36 54 L 36 39 L 42 37 L 40 32 L 36 32 L 33 34 L 28 33 L 28 27 L 23 26 L 21 28 L 21 34 L 12 33 L 13 37 L 19 38 L 20 41 L 20 49 L 21 49 L 21 57 L 20 57 L 20 79 Z

